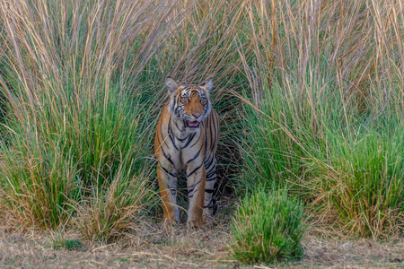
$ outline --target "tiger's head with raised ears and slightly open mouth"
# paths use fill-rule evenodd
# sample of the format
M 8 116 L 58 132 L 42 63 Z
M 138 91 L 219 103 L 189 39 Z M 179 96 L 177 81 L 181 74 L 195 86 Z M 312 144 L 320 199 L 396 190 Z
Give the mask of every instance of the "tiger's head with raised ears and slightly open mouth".
M 170 93 L 168 111 L 171 117 L 181 118 L 188 130 L 198 128 L 212 109 L 209 100 L 209 92 L 213 88 L 212 79 L 200 85 L 179 85 L 171 77 L 167 77 L 165 86 Z

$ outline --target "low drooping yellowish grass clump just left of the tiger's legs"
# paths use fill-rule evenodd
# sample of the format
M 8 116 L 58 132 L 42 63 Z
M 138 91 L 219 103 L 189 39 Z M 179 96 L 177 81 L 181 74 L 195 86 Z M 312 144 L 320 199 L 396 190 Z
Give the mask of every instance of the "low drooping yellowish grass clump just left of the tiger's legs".
M 120 170 L 106 190 L 93 188 L 92 195 L 85 197 L 77 208 L 74 226 L 84 239 L 107 242 L 119 239 L 135 229 L 136 221 L 145 215 L 146 205 L 153 197 L 146 185 L 148 178 L 131 177 L 130 171 L 126 171 L 128 175 L 123 173 Z

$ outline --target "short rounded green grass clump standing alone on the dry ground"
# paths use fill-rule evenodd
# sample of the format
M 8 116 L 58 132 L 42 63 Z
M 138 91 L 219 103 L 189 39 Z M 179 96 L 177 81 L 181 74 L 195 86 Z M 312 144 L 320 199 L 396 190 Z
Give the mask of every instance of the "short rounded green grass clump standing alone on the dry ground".
M 233 256 L 241 262 L 271 263 L 303 254 L 303 206 L 285 190 L 245 195 L 232 230 Z

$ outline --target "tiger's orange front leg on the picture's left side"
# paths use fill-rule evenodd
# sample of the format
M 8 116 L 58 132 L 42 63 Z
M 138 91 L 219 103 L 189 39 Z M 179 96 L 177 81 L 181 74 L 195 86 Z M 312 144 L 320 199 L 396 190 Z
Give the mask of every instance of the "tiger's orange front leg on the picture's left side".
M 177 206 L 177 175 L 174 169 L 162 169 L 157 166 L 157 178 L 159 179 L 160 195 L 162 196 L 162 211 L 164 221 L 180 224 L 180 209 Z

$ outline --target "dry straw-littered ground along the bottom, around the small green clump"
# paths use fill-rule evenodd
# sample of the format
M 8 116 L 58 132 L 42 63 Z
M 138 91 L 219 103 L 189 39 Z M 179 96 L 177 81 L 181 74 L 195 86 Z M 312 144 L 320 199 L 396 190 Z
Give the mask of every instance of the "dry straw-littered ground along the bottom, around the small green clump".
M 271 266 L 241 265 L 229 256 L 231 210 L 222 204 L 215 226 L 206 230 L 171 229 L 145 222 L 125 239 L 111 244 L 84 242 L 70 251 L 60 239 L 78 239 L 72 232 L 43 233 L 0 230 L 1 268 L 404 268 L 404 239 L 323 239 L 307 233 L 301 260 Z

